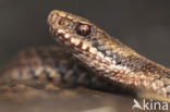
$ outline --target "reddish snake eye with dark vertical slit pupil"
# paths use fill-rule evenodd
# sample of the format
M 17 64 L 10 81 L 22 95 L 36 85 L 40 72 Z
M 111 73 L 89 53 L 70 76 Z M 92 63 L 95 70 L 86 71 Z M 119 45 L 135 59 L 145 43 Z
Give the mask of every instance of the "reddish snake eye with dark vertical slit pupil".
M 81 36 L 87 36 L 90 34 L 90 26 L 86 24 L 80 24 L 76 27 L 76 33 Z

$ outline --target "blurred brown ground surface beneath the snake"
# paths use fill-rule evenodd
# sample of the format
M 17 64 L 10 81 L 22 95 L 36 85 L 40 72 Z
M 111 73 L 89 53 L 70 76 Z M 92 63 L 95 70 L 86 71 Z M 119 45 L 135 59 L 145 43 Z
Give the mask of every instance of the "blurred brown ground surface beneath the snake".
M 20 85 L 0 92 L 0 112 L 131 112 L 132 105 L 131 97 L 82 87 L 49 85 L 42 90 Z

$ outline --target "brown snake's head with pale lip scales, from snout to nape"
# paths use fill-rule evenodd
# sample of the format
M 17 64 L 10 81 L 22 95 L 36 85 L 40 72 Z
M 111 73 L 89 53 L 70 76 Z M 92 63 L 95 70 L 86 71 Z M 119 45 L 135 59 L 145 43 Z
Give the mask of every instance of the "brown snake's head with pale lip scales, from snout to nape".
M 93 70 L 108 72 L 123 70 L 121 64 L 125 58 L 134 53 L 122 42 L 109 36 L 88 20 L 68 12 L 52 11 L 48 16 L 50 33 L 61 41 L 74 58 Z M 99 73 L 102 73 L 99 72 Z

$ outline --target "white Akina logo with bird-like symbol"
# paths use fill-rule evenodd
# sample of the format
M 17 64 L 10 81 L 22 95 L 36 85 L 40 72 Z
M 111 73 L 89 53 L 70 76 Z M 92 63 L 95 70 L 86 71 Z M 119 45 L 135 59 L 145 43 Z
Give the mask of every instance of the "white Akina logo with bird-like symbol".
M 168 102 L 155 102 L 153 99 L 145 100 L 139 103 L 136 99 L 133 100 L 134 104 L 132 107 L 132 110 L 139 109 L 139 110 L 168 110 Z

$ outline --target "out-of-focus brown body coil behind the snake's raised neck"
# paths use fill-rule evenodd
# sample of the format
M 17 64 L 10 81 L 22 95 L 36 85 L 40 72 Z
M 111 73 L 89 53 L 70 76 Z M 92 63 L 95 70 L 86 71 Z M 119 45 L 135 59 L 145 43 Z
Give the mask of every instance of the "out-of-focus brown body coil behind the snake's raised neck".
M 17 84 L 33 86 L 37 80 L 42 86 L 46 86 L 46 83 L 53 83 L 57 86 L 82 85 L 96 89 L 102 89 L 110 85 L 102 78 L 92 76 L 85 67 L 71 59 L 70 53 L 65 53 L 58 46 L 24 49 L 8 63 L 1 77 L 1 84 L 9 86 L 11 83 L 14 84 L 11 86 Z

